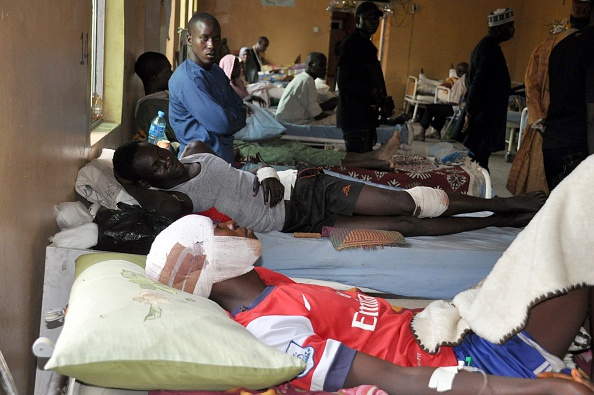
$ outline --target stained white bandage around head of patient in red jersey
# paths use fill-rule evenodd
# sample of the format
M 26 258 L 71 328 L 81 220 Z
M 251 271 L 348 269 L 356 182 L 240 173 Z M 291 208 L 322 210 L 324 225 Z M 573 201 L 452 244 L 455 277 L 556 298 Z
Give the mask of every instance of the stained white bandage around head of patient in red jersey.
M 210 218 L 188 215 L 157 235 L 145 270 L 160 283 L 208 297 L 213 284 L 252 270 L 261 253 L 258 240 L 214 236 Z

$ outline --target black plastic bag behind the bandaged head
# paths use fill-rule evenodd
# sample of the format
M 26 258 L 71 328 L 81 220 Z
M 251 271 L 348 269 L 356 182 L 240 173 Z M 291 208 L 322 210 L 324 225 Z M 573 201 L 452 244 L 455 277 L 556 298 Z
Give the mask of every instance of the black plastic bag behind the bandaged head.
M 96 250 L 146 255 L 155 237 L 173 221 L 140 206 L 118 203 L 120 210 L 99 211 Z

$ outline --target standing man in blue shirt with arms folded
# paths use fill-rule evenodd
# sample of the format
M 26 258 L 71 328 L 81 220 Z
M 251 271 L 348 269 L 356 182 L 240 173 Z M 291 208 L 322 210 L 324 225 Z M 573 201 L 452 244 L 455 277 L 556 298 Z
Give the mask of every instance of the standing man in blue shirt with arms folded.
M 169 80 L 169 121 L 183 152 L 192 140 L 233 163 L 233 135 L 245 126 L 246 109 L 216 60 L 221 26 L 210 14 L 188 22 L 191 52 Z

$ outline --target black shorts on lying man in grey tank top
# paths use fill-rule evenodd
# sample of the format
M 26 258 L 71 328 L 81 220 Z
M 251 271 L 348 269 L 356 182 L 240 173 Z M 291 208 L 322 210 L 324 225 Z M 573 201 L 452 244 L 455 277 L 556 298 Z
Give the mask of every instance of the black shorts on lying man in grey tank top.
M 364 184 L 321 172 L 297 177 L 287 205 L 283 232 L 321 232 L 338 214 L 353 215 Z

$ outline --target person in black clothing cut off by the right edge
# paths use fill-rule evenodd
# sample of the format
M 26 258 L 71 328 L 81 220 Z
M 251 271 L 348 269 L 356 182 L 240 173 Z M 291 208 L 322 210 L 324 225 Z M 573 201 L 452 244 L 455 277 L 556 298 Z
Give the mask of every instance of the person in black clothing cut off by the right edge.
M 542 154 L 553 190 L 594 153 L 594 17 L 551 51 L 549 89 Z

